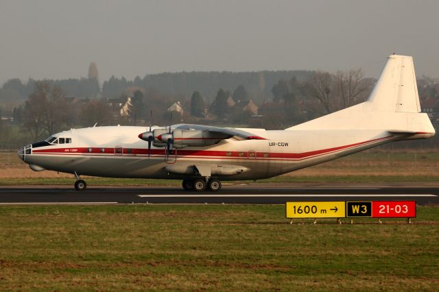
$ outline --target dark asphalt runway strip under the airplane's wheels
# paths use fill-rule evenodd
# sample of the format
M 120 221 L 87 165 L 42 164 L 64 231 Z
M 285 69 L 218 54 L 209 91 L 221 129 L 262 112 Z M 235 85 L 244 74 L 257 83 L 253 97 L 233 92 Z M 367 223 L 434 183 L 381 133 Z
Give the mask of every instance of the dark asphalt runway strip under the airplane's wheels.
M 10 204 L 285 204 L 299 201 L 415 200 L 439 204 L 437 186 L 226 186 L 217 193 L 170 187 L 15 186 L 0 188 L 0 205 Z

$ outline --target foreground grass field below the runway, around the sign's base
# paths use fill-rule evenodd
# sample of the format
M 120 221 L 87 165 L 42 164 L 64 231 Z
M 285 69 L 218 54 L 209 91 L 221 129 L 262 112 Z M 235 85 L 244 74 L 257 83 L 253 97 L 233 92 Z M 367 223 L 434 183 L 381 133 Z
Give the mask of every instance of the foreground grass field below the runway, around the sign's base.
M 436 206 L 412 225 L 284 217 L 284 206 L 3 206 L 0 290 L 439 289 Z

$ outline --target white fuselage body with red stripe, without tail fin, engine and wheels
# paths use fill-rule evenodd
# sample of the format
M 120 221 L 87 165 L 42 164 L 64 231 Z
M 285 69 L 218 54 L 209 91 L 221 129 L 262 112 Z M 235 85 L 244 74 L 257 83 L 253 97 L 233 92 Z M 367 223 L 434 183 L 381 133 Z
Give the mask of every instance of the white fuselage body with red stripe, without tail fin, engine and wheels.
M 270 178 L 321 162 L 340 158 L 370 147 L 397 140 L 401 135 L 382 130 L 248 130 L 266 140 L 238 141 L 234 138 L 209 147 L 172 149 L 152 147 L 137 136 L 144 127 L 89 127 L 60 132 L 54 137 L 71 143 L 32 148 L 24 161 L 43 169 L 80 175 L 118 178 L 185 179 L 190 174 L 169 173 L 169 165 L 244 167 L 237 174 L 212 175 L 222 180 Z

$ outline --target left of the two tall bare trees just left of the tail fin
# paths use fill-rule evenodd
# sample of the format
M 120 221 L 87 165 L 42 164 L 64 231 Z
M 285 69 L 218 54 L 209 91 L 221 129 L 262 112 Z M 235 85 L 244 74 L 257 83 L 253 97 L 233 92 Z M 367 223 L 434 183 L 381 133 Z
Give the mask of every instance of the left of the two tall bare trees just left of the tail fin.
M 331 89 L 333 86 L 333 76 L 330 73 L 317 71 L 305 81 L 303 92 L 309 97 L 318 99 L 324 111 L 331 112 Z

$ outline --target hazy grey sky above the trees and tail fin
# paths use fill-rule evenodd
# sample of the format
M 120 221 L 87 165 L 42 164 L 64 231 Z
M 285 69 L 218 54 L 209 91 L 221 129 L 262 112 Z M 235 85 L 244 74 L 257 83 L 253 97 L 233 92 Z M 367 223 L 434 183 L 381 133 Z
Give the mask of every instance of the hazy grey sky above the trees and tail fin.
M 439 77 L 439 1 L 5 1 L 0 84 L 164 71 L 361 67 L 393 51 Z

